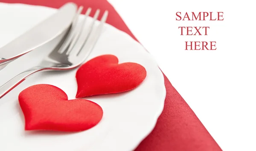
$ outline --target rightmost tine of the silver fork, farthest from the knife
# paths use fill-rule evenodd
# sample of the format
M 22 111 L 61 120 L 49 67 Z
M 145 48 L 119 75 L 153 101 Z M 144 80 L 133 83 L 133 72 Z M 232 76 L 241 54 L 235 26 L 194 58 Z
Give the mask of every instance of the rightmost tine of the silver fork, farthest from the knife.
M 108 11 L 105 11 L 101 18 L 100 24 L 98 25 L 98 27 L 94 32 L 91 32 L 84 47 L 77 54 L 81 62 L 84 62 L 84 60 L 87 58 L 87 56 L 89 56 L 90 52 L 93 50 L 93 47 L 96 44 L 97 40 L 99 39 L 99 36 L 102 32 L 103 25 L 106 22 L 107 18 L 108 18 Z

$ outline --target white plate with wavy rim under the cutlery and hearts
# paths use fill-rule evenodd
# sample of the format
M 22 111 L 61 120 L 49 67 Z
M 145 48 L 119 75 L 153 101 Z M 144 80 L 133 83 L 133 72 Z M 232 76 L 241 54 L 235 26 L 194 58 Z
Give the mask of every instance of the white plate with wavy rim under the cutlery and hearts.
M 55 11 L 41 6 L 0 3 L 0 46 Z M 9 64 L 0 72 L 0 84 L 36 65 L 55 44 L 56 39 Z M 104 111 L 102 120 L 92 129 L 78 133 L 24 131 L 23 113 L 17 101 L 20 91 L 34 84 L 52 84 L 63 89 L 69 99 L 76 95 L 76 70 L 36 73 L 0 99 L 0 151 L 131 151 L 136 148 L 154 128 L 163 110 L 166 95 L 163 74 L 143 46 L 108 24 L 88 59 L 102 54 L 117 56 L 119 63 L 143 65 L 147 70 L 145 81 L 129 92 L 88 98 Z

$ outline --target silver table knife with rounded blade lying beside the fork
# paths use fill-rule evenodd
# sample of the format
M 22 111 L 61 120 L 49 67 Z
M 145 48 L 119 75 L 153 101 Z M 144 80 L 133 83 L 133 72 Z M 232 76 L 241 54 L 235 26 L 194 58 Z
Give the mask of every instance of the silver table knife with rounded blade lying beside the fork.
M 0 70 L 23 54 L 62 34 L 70 27 L 76 11 L 75 3 L 66 3 L 55 14 L 0 48 Z

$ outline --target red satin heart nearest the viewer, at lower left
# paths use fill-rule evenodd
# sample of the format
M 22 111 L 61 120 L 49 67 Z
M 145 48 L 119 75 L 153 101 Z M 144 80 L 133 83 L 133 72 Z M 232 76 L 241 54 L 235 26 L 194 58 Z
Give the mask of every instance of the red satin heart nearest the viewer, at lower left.
M 38 84 L 20 92 L 26 130 L 83 131 L 102 119 L 102 108 L 88 100 L 68 100 L 58 87 Z

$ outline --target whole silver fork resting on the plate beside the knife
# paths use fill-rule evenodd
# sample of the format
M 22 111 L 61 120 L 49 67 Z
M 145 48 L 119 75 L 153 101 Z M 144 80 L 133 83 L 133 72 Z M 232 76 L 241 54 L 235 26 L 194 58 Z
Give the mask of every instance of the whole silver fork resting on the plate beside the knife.
M 104 12 L 100 20 L 100 24 L 97 27 L 94 27 L 100 13 L 100 10 L 97 9 L 89 28 L 84 28 L 85 22 L 90 15 L 91 8 L 87 9 L 84 14 L 84 19 L 79 25 L 78 20 L 82 10 L 83 7 L 80 6 L 70 29 L 64 35 L 63 39 L 61 39 L 58 45 L 49 53 L 48 56 L 44 57 L 38 66 L 32 67 L 29 70 L 18 74 L 0 87 L 0 98 L 14 89 L 33 73 L 47 70 L 71 70 L 84 62 L 93 50 L 93 47 L 101 34 L 103 25 L 108 17 L 108 11 Z

